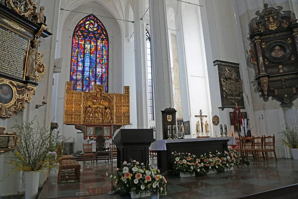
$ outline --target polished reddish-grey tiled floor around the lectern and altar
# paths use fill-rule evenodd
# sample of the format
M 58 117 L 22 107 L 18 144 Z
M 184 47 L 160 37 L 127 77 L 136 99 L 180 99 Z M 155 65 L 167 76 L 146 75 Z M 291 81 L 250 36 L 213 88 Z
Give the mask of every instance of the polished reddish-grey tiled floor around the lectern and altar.
M 82 165 L 80 182 L 57 184 L 57 174 L 51 171 L 39 199 L 129 199 L 118 194 L 112 196 L 106 194 L 111 190 L 109 178 L 105 176 L 106 172 L 110 172 L 109 164 L 104 162 L 80 164 Z M 234 167 L 232 171 L 220 174 L 189 178 L 166 176 L 166 179 L 169 194 L 160 199 L 234 199 L 298 184 L 298 161 L 251 160 L 249 168 Z

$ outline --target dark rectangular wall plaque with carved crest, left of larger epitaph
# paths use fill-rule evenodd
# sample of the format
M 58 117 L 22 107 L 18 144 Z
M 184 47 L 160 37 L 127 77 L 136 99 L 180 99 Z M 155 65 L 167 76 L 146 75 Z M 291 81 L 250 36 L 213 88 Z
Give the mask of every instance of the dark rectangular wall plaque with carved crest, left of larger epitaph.
M 222 106 L 219 108 L 232 108 L 236 102 L 244 108 L 239 64 L 216 60 L 214 65 L 218 67 L 219 72 L 222 100 Z

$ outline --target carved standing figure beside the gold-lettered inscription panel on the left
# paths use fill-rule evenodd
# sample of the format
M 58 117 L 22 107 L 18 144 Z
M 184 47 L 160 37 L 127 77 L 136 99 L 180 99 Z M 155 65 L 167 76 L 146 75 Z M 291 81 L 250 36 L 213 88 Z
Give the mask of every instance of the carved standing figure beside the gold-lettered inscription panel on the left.
M 38 40 L 33 41 L 33 48 L 29 50 L 28 57 L 27 57 L 27 69 L 26 69 L 26 77 L 34 77 L 35 76 L 35 68 L 37 65 L 37 51 L 38 47 Z

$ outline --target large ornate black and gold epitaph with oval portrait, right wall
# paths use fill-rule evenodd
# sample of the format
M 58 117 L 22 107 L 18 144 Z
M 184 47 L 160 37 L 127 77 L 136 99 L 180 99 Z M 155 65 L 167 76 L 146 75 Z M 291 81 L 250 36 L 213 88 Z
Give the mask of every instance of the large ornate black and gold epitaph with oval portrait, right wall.
M 292 107 L 298 98 L 298 23 L 290 10 L 268 7 L 249 23 L 249 60 L 254 65 L 256 92 L 280 106 Z

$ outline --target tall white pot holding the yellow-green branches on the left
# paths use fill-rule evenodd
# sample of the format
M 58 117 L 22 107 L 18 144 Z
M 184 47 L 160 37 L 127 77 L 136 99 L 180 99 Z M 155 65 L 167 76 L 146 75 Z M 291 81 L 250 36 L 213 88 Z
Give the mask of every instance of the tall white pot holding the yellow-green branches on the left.
M 25 199 L 36 199 L 38 193 L 39 172 L 24 172 Z

